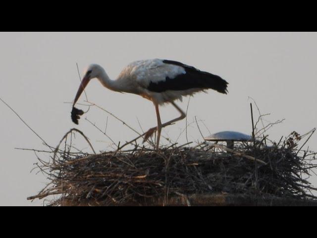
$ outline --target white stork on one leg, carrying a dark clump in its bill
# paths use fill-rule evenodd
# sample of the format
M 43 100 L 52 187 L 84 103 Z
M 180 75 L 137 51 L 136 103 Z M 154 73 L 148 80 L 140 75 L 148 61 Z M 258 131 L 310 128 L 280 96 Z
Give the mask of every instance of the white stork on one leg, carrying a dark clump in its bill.
M 226 94 L 228 85 L 225 80 L 217 75 L 172 60 L 155 59 L 132 62 L 122 70 L 116 80 L 111 80 L 102 66 L 91 64 L 85 73 L 73 104 L 71 118 L 76 124 L 80 119 L 79 116 L 83 115 L 84 112 L 74 106 L 89 81 L 93 78 L 99 79 L 110 90 L 138 94 L 154 103 L 158 125 L 145 133 L 144 140 L 147 140 L 157 131 L 157 149 L 159 148 L 162 127 L 186 117 L 186 114 L 174 103 L 175 100 L 182 100 L 182 96 L 193 95 L 207 89 Z M 164 103 L 172 104 L 181 116 L 166 123 L 161 123 L 159 105 Z

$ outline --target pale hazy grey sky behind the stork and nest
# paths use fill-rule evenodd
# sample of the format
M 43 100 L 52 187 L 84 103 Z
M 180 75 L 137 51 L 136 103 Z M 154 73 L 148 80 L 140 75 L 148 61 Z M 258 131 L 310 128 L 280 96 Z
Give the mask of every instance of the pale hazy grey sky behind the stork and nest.
M 205 120 L 212 133 L 250 133 L 250 96 L 263 113 L 271 113 L 266 119 L 286 119 L 268 132 L 271 139 L 279 140 L 293 130 L 304 133 L 317 126 L 316 42 L 317 33 L 0 33 L 0 97 L 50 145 L 76 127 L 98 150 L 105 150 L 109 140 L 84 118 L 104 127 L 107 115 L 91 109 L 75 126 L 70 119 L 71 105 L 63 103 L 73 100 L 79 86 L 76 62 L 81 72 L 88 64 L 99 63 L 114 79 L 134 60 L 178 60 L 230 83 L 228 95 L 214 91 L 195 95 L 189 121 L 195 116 Z M 155 109 L 142 97 L 111 92 L 97 80 L 86 91 L 90 101 L 137 129 L 137 118 L 145 129 L 156 125 Z M 184 110 L 187 100 L 178 103 Z M 30 173 L 37 158 L 32 152 L 14 148 L 44 146 L 2 103 L 0 112 L 0 205 L 42 205 L 42 201 L 26 200 L 47 181 Z M 176 116 L 171 106 L 161 109 L 164 121 Z M 163 129 L 162 134 L 176 140 L 183 128 L 185 120 Z M 203 133 L 209 134 L 205 128 Z M 135 137 L 112 118 L 108 119 L 107 134 L 116 142 Z M 189 128 L 189 139 L 201 140 L 196 126 Z M 179 143 L 183 142 L 184 134 L 179 138 Z M 316 144 L 315 135 L 309 146 L 317 150 Z M 80 139 L 77 146 L 87 147 Z M 45 155 L 42 158 L 46 159 Z M 317 178 L 312 181 L 317 186 Z

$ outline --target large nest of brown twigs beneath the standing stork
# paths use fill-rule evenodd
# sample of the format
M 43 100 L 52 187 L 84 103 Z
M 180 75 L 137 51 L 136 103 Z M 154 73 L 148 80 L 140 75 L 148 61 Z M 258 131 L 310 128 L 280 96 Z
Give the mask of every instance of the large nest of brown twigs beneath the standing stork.
M 168 205 L 170 197 L 211 193 L 316 199 L 307 180 L 316 168 L 315 157 L 295 149 L 300 139 L 293 133 L 278 144 L 267 146 L 264 138 L 234 150 L 208 143 L 159 151 L 136 146 L 98 155 L 56 150 L 54 160 L 40 167 L 51 182 L 29 199 L 55 195 L 49 203 L 54 206 L 66 200 L 76 205 L 143 205 L 151 198 Z

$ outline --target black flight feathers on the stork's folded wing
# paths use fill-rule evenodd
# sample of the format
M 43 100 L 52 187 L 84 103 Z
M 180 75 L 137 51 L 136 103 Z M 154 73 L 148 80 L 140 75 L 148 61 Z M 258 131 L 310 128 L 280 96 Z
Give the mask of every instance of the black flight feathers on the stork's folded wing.
M 185 69 L 185 74 L 177 75 L 175 78 L 166 77 L 165 81 L 157 83 L 151 82 L 148 90 L 152 92 L 164 92 L 167 90 L 187 90 L 193 88 L 213 89 L 219 93 L 227 94 L 227 81 L 221 77 L 201 71 L 193 66 L 183 64 L 173 60 L 163 60 L 164 63 L 181 66 Z

